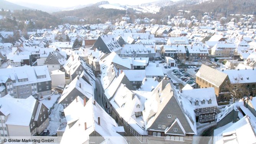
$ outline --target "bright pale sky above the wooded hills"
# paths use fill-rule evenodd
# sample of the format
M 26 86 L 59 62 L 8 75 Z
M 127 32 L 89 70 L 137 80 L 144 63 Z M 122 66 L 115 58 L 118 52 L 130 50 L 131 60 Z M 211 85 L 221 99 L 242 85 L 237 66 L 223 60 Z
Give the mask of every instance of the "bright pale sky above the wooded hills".
M 7 0 L 12 3 L 35 3 L 39 5 L 49 5 L 54 7 L 73 7 L 77 5 L 87 5 L 101 2 L 102 0 Z M 109 3 L 119 3 L 121 5 L 139 5 L 141 3 L 154 2 L 157 0 L 108 0 Z M 177 0 L 172 0 L 177 1 Z

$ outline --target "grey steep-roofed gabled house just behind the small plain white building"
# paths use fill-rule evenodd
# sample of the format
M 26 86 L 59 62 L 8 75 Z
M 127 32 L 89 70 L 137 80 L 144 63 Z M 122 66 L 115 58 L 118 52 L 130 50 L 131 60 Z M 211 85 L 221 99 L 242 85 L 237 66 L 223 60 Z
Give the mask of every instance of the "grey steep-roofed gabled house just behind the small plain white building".
M 62 56 L 59 51 L 50 52 L 46 58 L 44 65 L 47 65 L 49 72 L 53 70 L 63 70 L 66 63 L 66 57 Z

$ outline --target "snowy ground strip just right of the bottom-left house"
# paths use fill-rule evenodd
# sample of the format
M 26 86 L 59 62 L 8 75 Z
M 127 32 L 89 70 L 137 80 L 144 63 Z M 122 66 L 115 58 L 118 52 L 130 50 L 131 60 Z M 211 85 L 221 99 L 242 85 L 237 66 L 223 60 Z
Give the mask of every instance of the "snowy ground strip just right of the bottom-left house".
M 61 111 L 63 111 L 63 106 L 61 104 L 54 104 L 54 108 L 49 115 L 49 126 L 47 129 L 50 131 L 50 135 L 55 135 L 57 133 L 57 129 L 61 125 L 61 123 L 67 123 L 67 120 L 64 116 L 61 116 Z

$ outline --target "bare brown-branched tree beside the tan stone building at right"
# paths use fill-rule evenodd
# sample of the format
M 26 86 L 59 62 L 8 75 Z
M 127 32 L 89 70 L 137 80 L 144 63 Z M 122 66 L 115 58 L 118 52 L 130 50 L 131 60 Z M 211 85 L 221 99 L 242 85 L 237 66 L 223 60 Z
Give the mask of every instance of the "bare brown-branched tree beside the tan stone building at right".
M 237 77 L 231 78 L 231 82 L 228 83 L 226 87 L 230 92 L 231 97 L 233 97 L 233 103 L 235 103 L 235 99 L 242 98 L 244 94 L 249 92 L 248 89 L 245 88 L 242 81 L 243 77 L 238 75 Z

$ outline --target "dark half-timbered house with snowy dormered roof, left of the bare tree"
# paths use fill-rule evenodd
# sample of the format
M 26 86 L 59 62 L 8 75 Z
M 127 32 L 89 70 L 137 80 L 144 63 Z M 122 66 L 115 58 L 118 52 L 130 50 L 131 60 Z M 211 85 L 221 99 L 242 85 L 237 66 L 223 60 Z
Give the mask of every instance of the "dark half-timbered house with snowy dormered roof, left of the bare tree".
M 186 88 L 190 87 L 190 88 Z M 193 89 L 187 84 L 181 90 L 181 96 L 187 98 L 194 106 L 195 121 L 206 123 L 215 121 L 216 107 L 218 106 L 214 88 Z

